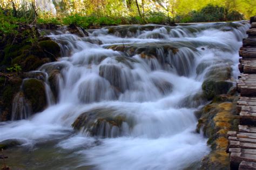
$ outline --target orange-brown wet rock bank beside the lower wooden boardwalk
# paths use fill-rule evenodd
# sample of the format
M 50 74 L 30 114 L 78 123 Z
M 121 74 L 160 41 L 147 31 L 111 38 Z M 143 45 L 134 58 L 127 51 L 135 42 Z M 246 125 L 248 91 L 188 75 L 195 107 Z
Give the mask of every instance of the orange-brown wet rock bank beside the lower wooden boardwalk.
M 197 131 L 203 131 L 212 151 L 201 162 L 200 169 L 228 169 L 230 159 L 226 153 L 227 132 L 237 130 L 239 118 L 236 103 L 238 97 L 216 96 L 212 103 L 197 112 Z

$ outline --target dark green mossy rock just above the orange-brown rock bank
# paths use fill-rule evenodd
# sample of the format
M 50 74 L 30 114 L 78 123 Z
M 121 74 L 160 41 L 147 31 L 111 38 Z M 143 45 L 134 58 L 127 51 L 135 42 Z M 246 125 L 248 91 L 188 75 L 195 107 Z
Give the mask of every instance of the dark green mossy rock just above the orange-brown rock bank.
M 216 95 L 226 94 L 232 86 L 233 83 L 228 81 L 206 80 L 202 84 L 202 89 L 207 100 L 212 100 Z

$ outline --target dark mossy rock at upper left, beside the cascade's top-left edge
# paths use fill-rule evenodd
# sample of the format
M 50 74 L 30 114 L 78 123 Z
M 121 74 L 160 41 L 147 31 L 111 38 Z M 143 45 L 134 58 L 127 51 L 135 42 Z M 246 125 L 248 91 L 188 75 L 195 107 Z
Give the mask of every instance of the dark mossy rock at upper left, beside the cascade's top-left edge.
M 60 56 L 59 45 L 52 40 L 44 40 L 38 43 L 39 47 L 48 54 L 49 58 L 58 58 Z

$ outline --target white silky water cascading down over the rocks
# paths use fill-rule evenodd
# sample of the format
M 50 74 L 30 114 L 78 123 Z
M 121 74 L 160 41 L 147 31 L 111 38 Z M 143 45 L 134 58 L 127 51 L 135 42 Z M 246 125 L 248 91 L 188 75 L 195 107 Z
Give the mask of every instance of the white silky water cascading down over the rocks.
M 113 26 L 87 30 L 87 37 L 51 32 L 63 57 L 39 68 L 55 75 L 55 86 L 46 80 L 49 107 L 0 124 L 0 141 L 22 142 L 9 154 L 32 155 L 17 156 L 13 166 L 197 168 L 210 149 L 195 133 L 194 111 L 206 101 L 194 96 L 201 96 L 203 81 L 222 79 L 218 70 L 225 77 L 238 75 L 238 49 L 248 27 L 246 22 Z M 14 103 L 23 102 L 18 96 Z M 26 118 L 22 107 L 14 104 L 13 111 Z

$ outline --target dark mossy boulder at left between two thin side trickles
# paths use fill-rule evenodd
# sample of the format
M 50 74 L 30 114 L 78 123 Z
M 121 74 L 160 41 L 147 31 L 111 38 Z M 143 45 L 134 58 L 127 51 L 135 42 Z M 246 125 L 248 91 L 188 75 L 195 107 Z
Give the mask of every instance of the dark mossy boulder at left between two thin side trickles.
M 43 111 L 46 108 L 44 82 L 37 79 L 25 79 L 22 90 L 25 98 L 32 104 L 33 113 Z

